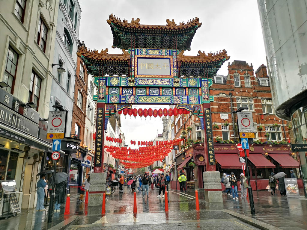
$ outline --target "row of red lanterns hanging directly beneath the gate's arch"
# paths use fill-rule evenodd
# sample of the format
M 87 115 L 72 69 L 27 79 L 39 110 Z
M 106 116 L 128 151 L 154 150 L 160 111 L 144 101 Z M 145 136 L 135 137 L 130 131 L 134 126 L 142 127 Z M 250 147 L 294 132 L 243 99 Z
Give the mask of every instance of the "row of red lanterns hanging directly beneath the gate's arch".
M 128 109 L 128 108 L 125 108 L 125 109 L 122 109 L 120 111 L 118 111 L 119 114 L 124 114 L 125 116 L 128 114 L 130 117 L 133 115 L 134 117 L 142 117 L 144 116 L 145 118 L 146 117 L 154 117 L 156 118 L 157 116 L 159 116 L 160 118 L 162 116 L 177 116 L 178 114 L 181 115 L 181 114 L 189 114 L 190 111 L 186 110 L 186 109 L 177 109 L 177 108 L 169 108 L 169 109 L 152 109 L 152 108 L 149 108 L 149 109 L 142 109 L 142 108 L 139 108 L 139 109 Z

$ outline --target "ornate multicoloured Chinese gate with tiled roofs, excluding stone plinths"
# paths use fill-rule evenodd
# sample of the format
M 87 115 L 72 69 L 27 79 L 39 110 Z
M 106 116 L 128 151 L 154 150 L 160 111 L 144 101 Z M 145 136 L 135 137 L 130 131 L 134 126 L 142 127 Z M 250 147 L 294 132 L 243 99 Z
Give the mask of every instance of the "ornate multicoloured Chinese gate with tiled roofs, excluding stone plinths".
M 192 38 L 201 26 L 198 17 L 180 25 L 169 19 L 167 25 L 142 25 L 139 21 L 109 16 L 112 48 L 122 49 L 122 54 L 109 54 L 108 49 L 90 50 L 85 45 L 77 53 L 84 60 L 87 73 L 95 76 L 98 87 L 94 96 L 97 100 L 94 172 L 103 172 L 103 130 L 108 117 L 133 104 L 176 105 L 197 115 L 206 130 L 204 143 L 212 146 L 212 151 L 205 148 L 206 170 L 215 170 L 210 135 L 210 101 L 214 98 L 209 95 L 209 87 L 212 77 L 230 57 L 225 50 L 184 55 L 191 49 Z

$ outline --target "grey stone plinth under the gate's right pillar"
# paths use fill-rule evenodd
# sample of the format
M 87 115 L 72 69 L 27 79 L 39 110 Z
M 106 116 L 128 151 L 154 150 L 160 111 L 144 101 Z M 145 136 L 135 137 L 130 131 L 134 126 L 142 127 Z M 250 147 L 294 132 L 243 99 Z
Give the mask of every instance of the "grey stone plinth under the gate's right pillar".
M 219 171 L 203 172 L 205 201 L 223 202 L 222 185 Z

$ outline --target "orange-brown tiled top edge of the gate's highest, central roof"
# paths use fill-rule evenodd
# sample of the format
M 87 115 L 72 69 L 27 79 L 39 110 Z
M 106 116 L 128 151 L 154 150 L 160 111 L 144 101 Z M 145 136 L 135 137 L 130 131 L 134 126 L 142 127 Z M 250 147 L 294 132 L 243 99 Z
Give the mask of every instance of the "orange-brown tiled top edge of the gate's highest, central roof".
M 128 20 L 121 21 L 120 18 L 115 17 L 115 15 L 110 14 L 109 19 L 107 20 L 107 23 L 111 25 L 112 23 L 125 26 L 127 28 L 139 28 L 139 29 L 168 29 L 168 30 L 177 30 L 177 29 L 187 29 L 190 27 L 194 27 L 197 25 L 198 27 L 201 26 L 201 23 L 199 22 L 199 18 L 195 17 L 192 20 L 188 21 L 187 23 L 180 22 L 179 25 L 177 25 L 174 22 L 174 19 L 170 21 L 169 19 L 166 19 L 167 24 L 166 25 L 142 25 L 139 23 L 140 19 L 137 18 L 134 20 L 132 18 L 131 22 L 128 22 Z

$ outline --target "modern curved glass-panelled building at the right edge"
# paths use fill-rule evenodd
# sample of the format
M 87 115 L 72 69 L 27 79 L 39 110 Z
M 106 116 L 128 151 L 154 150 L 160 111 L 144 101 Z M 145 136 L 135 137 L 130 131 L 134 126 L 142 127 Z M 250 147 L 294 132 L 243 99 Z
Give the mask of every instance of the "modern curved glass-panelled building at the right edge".
M 307 1 L 258 0 L 275 113 L 307 144 Z M 307 190 L 305 152 L 298 155 Z M 306 193 L 305 193 L 306 195 Z

